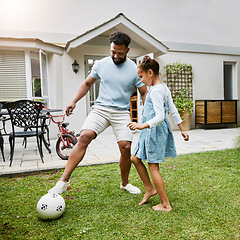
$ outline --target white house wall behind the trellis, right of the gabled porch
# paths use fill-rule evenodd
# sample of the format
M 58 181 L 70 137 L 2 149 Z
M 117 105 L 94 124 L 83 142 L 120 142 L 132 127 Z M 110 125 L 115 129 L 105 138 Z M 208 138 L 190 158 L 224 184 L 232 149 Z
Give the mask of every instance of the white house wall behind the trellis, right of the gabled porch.
M 237 95 L 240 96 L 240 56 L 204 54 L 204 53 L 184 53 L 168 52 L 157 58 L 161 73 L 164 74 L 164 66 L 177 61 L 191 64 L 193 67 L 193 99 L 194 100 L 223 100 L 223 64 L 224 62 L 236 62 L 236 83 Z M 238 103 L 238 125 L 240 124 L 240 111 Z M 175 124 L 171 124 L 173 129 L 178 129 Z M 192 114 L 191 127 L 195 127 L 195 112 Z

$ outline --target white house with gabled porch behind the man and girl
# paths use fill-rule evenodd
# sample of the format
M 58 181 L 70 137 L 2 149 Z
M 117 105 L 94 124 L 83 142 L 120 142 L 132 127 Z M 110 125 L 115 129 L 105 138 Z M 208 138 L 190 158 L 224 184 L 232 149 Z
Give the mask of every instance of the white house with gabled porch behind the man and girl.
M 193 99 L 239 100 L 240 47 L 160 41 L 120 13 L 110 20 L 73 37 L 65 44 L 38 38 L 0 36 L 0 101 L 41 99 L 50 108 L 71 102 L 94 61 L 109 55 L 108 36 L 113 31 L 128 33 L 132 42 L 128 57 L 136 62 L 151 54 L 162 66 L 181 61 L 193 67 Z M 79 64 L 73 72 L 72 64 Z M 225 73 L 225 74 L 224 74 Z M 74 116 L 67 119 L 79 131 L 97 96 L 97 84 L 78 102 Z M 138 101 L 141 109 L 141 101 Z M 240 103 L 238 101 L 238 109 Z M 140 114 L 139 114 L 140 117 Z M 195 127 L 195 112 L 191 126 Z M 238 126 L 240 111 L 238 111 Z M 174 126 L 172 126 L 175 129 Z M 52 137 L 56 136 L 53 128 Z

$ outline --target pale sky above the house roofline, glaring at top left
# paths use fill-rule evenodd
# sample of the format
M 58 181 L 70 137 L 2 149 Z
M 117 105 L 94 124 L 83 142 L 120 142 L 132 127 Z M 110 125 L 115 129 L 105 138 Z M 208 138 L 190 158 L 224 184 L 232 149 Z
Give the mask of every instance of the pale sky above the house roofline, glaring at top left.
M 240 47 L 239 9 L 239 0 L 0 0 L 0 36 L 72 37 L 124 13 L 161 41 Z

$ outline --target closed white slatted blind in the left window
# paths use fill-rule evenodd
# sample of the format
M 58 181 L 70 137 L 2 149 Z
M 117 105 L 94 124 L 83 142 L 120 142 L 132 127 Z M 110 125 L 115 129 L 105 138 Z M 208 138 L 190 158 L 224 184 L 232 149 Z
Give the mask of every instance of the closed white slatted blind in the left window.
M 0 50 L 0 101 L 26 97 L 24 51 Z

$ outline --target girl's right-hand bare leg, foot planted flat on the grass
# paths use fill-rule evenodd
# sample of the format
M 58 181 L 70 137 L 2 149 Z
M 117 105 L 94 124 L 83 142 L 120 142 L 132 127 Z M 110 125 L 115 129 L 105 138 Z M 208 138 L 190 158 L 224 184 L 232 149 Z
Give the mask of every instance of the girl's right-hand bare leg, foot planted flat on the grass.
M 172 207 L 169 203 L 166 189 L 164 186 L 163 178 L 159 172 L 159 164 L 158 163 L 148 163 L 148 167 L 152 176 L 153 183 L 157 190 L 157 193 L 161 199 L 161 203 L 153 206 L 153 210 L 160 210 L 160 211 L 171 211 Z

